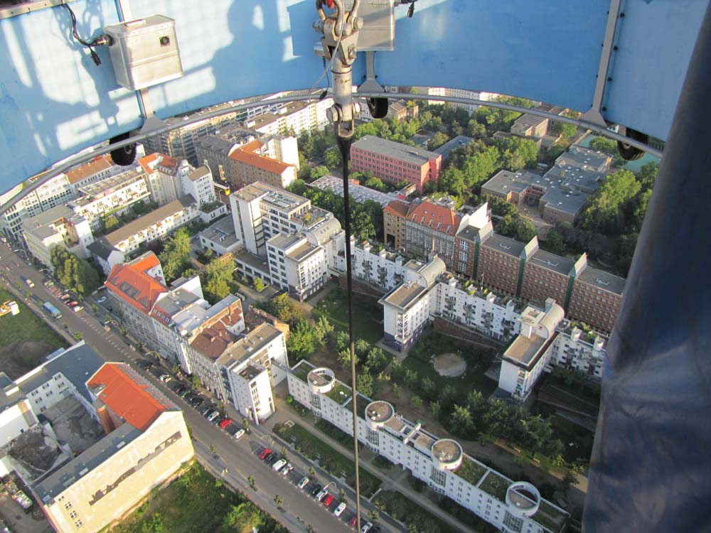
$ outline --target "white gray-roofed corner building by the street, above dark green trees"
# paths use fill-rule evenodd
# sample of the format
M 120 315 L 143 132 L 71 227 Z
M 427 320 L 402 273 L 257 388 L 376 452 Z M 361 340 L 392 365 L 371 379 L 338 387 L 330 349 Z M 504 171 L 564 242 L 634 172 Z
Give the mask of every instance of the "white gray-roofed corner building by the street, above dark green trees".
M 78 257 L 88 257 L 87 249 L 94 241 L 89 222 L 66 205 L 28 218 L 21 229 L 29 252 L 52 270 L 50 252 L 55 246 L 63 246 Z

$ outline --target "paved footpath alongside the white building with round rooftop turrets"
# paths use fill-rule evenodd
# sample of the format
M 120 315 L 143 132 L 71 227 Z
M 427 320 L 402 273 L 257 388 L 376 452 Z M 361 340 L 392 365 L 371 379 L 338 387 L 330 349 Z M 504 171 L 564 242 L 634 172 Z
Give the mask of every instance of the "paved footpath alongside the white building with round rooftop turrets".
M 299 421 L 301 422 L 301 425 L 304 426 L 304 429 L 309 431 L 309 433 L 311 433 L 315 437 L 321 439 L 321 441 L 328 443 L 328 446 L 331 446 L 331 448 L 333 448 L 334 450 L 343 453 L 344 456 L 349 458 L 353 456 L 353 450 L 344 448 L 343 446 L 341 446 L 341 443 L 334 441 L 333 438 L 324 434 L 324 432 L 302 419 L 301 416 L 296 411 L 294 411 L 294 409 L 292 409 L 292 407 L 287 404 L 287 402 L 284 402 L 283 399 L 279 397 L 274 397 L 274 400 L 276 402 L 275 407 L 277 411 L 269 417 L 269 419 L 264 423 L 264 426 L 262 427 L 269 429 L 269 431 L 273 431 L 274 426 L 276 426 L 277 424 L 282 424 L 287 420 Z M 437 505 L 428 500 L 426 497 L 419 494 L 419 492 L 415 492 L 415 490 L 412 490 L 411 488 L 407 487 L 403 483 L 404 480 L 402 480 L 405 473 L 407 473 L 407 470 L 394 468 L 392 474 L 385 473 L 383 472 L 383 470 L 380 470 L 379 468 L 373 466 L 373 463 L 371 463 L 367 458 L 363 457 L 363 453 L 361 453 L 361 457 L 358 462 L 360 463 L 361 469 L 367 470 L 368 473 L 375 475 L 376 478 L 380 479 L 383 482 L 383 487 L 381 487 L 381 490 L 397 490 L 397 492 L 400 492 L 402 495 L 405 495 L 413 503 L 419 505 L 419 507 L 424 508 L 425 510 L 427 510 L 427 512 L 441 519 L 442 522 L 446 522 L 447 524 L 449 524 L 449 526 L 454 527 L 456 531 L 476 533 L 474 529 L 471 529 L 471 527 L 467 526 L 462 522 L 459 522 L 459 520 L 449 515 L 447 512 L 444 512 L 439 509 Z

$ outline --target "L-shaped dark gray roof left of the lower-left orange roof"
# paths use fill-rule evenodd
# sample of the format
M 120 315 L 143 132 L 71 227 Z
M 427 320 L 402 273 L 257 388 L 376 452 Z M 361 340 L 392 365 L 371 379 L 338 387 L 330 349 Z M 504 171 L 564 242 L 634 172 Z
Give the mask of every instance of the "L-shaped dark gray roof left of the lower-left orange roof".
M 103 357 L 82 341 L 60 352 L 59 355 L 38 367 L 32 375 L 27 375 L 26 379 L 20 378 L 21 381 L 17 383 L 18 388 L 23 394 L 29 394 L 61 372 L 74 385 L 77 392 L 91 403 L 86 382 L 105 362 Z

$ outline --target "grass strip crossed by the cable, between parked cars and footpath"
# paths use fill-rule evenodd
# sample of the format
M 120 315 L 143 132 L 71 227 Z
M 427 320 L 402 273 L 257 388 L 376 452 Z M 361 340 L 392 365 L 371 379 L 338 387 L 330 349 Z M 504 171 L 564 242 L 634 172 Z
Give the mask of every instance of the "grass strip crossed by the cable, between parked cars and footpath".
M 346 483 L 351 487 L 355 485 L 355 465 L 353 465 L 353 461 L 309 433 L 303 426 L 299 426 L 299 424 L 294 424 L 291 428 L 277 426 L 274 428 L 274 432 L 284 438 L 285 441 L 293 442 L 296 449 L 304 456 L 313 460 L 318 458 L 321 468 L 324 468 L 331 475 L 340 478 L 342 473 L 346 473 Z M 360 493 L 365 497 L 370 497 L 375 494 L 379 487 L 380 480 L 361 468 Z

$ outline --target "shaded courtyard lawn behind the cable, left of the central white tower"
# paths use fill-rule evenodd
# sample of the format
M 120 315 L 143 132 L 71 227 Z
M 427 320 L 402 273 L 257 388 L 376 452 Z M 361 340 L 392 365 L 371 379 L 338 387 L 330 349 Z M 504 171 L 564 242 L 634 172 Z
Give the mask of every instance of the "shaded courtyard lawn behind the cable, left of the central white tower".
M 333 289 L 314 307 L 311 313 L 314 320 L 321 316 L 328 318 L 333 326 L 348 331 L 348 300 L 341 289 Z M 383 338 L 383 311 L 375 306 L 375 298 L 354 296 L 353 300 L 353 335 L 356 339 L 367 340 L 375 344 Z

